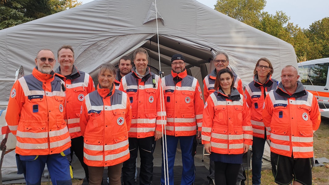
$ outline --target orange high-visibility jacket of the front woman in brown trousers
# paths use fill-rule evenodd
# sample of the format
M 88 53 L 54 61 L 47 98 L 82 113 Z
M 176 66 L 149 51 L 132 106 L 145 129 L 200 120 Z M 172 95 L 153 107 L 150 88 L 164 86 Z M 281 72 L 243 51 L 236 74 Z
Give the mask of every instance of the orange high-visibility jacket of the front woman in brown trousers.
M 131 107 L 126 93 L 113 87 L 89 93 L 80 117 L 84 136 L 84 162 L 88 166 L 113 166 L 129 159 L 128 130 Z

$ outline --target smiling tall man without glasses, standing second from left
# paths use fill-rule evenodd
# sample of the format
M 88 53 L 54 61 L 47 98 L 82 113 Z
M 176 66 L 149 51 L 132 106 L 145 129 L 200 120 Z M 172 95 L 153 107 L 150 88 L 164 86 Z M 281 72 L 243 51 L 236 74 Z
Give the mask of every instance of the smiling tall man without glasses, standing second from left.
M 85 96 L 95 90 L 95 85 L 88 73 L 79 71 L 74 66 L 74 50 L 72 46 L 61 46 L 57 51 L 57 58 L 60 66 L 55 70 L 56 76 L 64 81 L 66 88 L 66 114 L 64 119 L 70 132 L 71 159 L 74 152 L 85 171 L 88 182 L 88 166 L 83 161 L 84 138 L 81 135 L 80 114 Z

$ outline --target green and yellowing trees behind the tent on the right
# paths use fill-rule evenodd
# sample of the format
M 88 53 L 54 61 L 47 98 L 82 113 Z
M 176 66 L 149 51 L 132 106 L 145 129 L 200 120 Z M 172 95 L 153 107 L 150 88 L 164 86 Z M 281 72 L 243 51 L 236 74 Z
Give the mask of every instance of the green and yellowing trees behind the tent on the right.
M 289 22 L 290 17 L 282 11 L 274 15 L 264 12 L 265 5 L 266 0 L 217 0 L 215 10 L 289 42 L 298 61 L 329 57 L 329 17 L 304 30 Z

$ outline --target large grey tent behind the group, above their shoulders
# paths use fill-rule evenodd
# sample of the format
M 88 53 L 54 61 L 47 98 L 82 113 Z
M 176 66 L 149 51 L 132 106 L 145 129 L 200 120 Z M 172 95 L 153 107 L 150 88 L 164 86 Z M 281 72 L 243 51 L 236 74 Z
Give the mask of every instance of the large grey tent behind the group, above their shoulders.
M 208 62 L 218 50 L 229 54 L 229 65 L 244 85 L 252 81 L 251 71 L 261 57 L 272 61 L 276 79 L 284 66 L 297 67 L 293 47 L 283 40 L 194 0 L 157 0 L 156 3 L 157 10 L 153 0 L 95 0 L 0 30 L 0 76 L 13 78 L 18 65 L 23 65 L 26 74 L 30 74 L 40 49 L 49 48 L 56 56 L 63 44 L 73 46 L 75 65 L 92 77 L 96 77 L 102 63 L 116 64 L 123 54 L 131 56 L 132 48 L 137 45 L 154 53 L 150 59 L 158 69 L 158 48 L 154 45 L 161 46 L 161 66 L 170 64 L 173 54 L 183 54 L 189 59 L 186 63 L 193 76 L 199 76 L 200 84 L 200 66 L 206 64 L 209 69 Z M 160 18 L 156 19 L 155 11 Z M 170 73 L 170 66 L 167 68 L 165 75 Z M 3 94 L 0 101 L 8 101 L 12 85 L 12 82 L 0 84 Z

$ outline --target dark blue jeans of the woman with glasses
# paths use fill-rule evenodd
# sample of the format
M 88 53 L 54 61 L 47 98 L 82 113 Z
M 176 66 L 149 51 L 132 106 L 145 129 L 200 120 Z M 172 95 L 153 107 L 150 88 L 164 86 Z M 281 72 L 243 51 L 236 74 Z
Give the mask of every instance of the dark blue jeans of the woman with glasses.
M 252 141 L 252 184 L 261 184 L 262 159 L 266 139 L 254 137 Z

